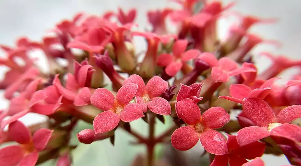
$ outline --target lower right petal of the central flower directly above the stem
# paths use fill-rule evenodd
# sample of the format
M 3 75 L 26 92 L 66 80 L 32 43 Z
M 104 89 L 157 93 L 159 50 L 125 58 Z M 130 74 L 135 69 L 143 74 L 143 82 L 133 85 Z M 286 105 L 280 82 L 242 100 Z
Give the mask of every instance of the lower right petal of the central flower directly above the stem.
M 167 100 L 160 97 L 154 97 L 147 104 L 148 109 L 159 115 L 170 115 L 171 107 Z

